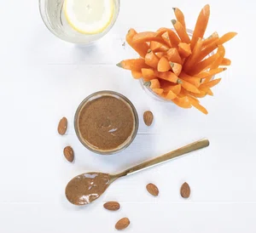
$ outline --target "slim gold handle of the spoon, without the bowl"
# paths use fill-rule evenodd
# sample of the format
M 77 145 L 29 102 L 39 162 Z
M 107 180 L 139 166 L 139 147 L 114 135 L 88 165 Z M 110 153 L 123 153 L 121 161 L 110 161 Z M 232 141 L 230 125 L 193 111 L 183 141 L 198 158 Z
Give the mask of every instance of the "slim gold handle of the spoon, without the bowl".
M 149 161 L 143 162 L 141 164 L 138 164 L 137 166 L 133 167 L 133 168 L 129 168 L 127 170 L 125 170 L 125 172 L 123 173 L 119 173 L 119 177 L 121 176 L 125 176 L 127 174 L 131 174 L 131 173 L 136 173 L 138 171 L 141 171 L 145 168 L 150 168 L 153 167 L 156 164 L 160 164 L 162 162 L 166 162 L 167 160 L 170 160 L 172 158 L 175 158 L 177 156 L 182 156 L 184 154 L 187 154 L 191 151 L 196 151 L 199 150 L 201 148 L 207 147 L 208 145 L 210 145 L 210 142 L 208 139 L 201 139 L 199 141 L 195 141 L 194 143 L 191 143 L 189 145 L 185 145 L 175 151 L 171 151 L 163 156 L 158 156 L 154 159 L 151 159 Z

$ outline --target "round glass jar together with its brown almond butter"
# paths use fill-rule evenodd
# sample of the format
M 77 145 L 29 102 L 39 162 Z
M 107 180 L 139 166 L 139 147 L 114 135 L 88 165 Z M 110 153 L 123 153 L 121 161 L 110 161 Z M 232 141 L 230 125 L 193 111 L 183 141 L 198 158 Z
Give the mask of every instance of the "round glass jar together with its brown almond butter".
M 131 145 L 137 135 L 137 111 L 124 95 L 113 91 L 90 94 L 79 105 L 74 127 L 90 151 L 111 155 Z

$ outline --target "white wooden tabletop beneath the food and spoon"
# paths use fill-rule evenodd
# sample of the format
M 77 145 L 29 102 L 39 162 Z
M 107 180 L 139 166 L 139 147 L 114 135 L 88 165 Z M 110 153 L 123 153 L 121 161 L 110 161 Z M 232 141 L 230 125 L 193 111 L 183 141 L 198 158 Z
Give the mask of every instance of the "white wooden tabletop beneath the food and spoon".
M 172 7 L 183 9 L 194 27 L 203 0 L 122 0 L 119 19 L 95 46 L 79 48 L 54 37 L 43 24 L 37 0 L 2 1 L 0 7 L 0 232 L 114 232 L 123 217 L 125 232 L 238 233 L 256 232 L 256 2 L 209 0 L 207 35 L 237 31 L 227 43 L 232 66 L 202 100 L 209 111 L 182 110 L 154 102 L 128 71 L 115 66 L 136 54 L 123 47 L 130 27 L 137 31 L 171 26 Z M 73 116 L 87 95 L 102 89 L 125 94 L 137 108 L 139 134 L 125 151 L 98 156 L 76 138 Z M 146 128 L 143 111 L 154 112 Z M 69 121 L 68 134 L 56 133 L 59 119 Z M 87 207 L 67 202 L 64 189 L 73 176 L 86 171 L 114 173 L 159 156 L 178 146 L 207 137 L 211 146 L 116 181 L 101 199 Z M 62 156 L 72 145 L 76 160 Z M 191 186 L 189 200 L 180 185 Z M 145 190 L 152 182 L 160 196 Z M 102 203 L 116 200 L 117 213 Z

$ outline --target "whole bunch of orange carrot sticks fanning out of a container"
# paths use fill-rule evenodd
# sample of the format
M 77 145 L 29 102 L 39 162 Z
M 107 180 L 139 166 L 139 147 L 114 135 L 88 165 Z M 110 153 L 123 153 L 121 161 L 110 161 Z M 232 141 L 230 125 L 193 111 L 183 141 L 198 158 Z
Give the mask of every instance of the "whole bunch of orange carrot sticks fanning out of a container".
M 155 94 L 171 100 L 182 108 L 194 106 L 207 114 L 198 98 L 213 95 L 212 87 L 221 78 L 212 77 L 226 70 L 231 60 L 225 58 L 224 43 L 236 36 L 228 32 L 219 37 L 215 31 L 204 38 L 210 16 L 207 4 L 198 16 L 190 38 L 183 12 L 174 8 L 176 20 L 172 20 L 174 30 L 161 27 L 158 31 L 137 32 L 130 29 L 126 41 L 137 51 L 140 58 L 122 60 L 119 67 L 130 70 L 132 77 L 143 78 Z M 217 49 L 216 53 L 212 54 Z

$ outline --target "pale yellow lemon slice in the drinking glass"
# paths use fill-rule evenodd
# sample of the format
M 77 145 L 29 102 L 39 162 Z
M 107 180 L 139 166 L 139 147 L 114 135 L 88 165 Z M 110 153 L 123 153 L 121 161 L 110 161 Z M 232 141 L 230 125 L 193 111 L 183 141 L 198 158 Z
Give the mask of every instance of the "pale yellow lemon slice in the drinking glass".
M 65 0 L 64 14 L 75 31 L 100 33 L 113 18 L 113 0 Z

